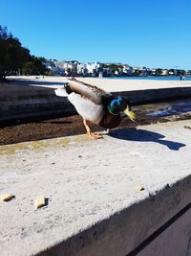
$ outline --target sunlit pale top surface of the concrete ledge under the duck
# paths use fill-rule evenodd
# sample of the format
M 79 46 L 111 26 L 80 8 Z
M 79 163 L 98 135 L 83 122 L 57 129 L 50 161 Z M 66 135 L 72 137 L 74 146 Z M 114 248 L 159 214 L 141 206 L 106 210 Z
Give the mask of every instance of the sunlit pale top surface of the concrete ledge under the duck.
M 189 176 L 191 129 L 185 126 L 190 120 L 118 129 L 99 140 L 79 135 L 1 146 L 0 194 L 15 196 L 0 203 L 1 255 L 36 254 Z M 35 210 L 41 195 L 48 205 Z M 176 197 L 165 202 L 171 214 Z M 138 230 L 136 222 L 133 228 Z M 117 255 L 113 249 L 108 255 Z M 97 247 L 92 255 L 107 254 Z

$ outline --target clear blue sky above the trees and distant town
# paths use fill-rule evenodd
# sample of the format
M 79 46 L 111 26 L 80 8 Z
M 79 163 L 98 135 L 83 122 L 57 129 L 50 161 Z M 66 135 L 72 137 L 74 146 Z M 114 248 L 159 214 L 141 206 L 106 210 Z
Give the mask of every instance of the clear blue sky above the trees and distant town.
M 191 69 L 191 0 L 0 0 L 37 57 Z

